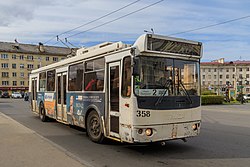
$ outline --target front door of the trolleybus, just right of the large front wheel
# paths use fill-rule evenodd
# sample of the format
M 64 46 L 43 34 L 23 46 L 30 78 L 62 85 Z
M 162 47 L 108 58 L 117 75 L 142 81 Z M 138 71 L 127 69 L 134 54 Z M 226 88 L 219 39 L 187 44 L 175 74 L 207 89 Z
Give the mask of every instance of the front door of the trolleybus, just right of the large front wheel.
M 120 137 L 119 135 L 119 85 L 120 85 L 120 62 L 110 63 L 108 66 L 108 118 L 110 136 Z

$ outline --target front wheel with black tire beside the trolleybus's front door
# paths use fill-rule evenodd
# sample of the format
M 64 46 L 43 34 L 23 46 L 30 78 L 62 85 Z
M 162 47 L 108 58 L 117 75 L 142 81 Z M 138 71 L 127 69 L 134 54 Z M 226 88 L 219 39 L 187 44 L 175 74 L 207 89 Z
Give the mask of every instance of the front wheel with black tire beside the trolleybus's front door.
M 87 117 L 87 133 L 93 142 L 102 143 L 104 141 L 101 119 L 96 111 L 91 111 Z

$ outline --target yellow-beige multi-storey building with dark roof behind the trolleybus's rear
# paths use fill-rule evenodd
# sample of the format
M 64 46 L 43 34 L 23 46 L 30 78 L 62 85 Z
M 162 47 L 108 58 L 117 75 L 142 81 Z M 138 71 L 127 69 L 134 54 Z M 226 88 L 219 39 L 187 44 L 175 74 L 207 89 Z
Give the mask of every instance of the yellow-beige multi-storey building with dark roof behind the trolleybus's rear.
M 71 49 L 0 42 L 0 93 L 27 92 L 31 70 L 67 58 Z

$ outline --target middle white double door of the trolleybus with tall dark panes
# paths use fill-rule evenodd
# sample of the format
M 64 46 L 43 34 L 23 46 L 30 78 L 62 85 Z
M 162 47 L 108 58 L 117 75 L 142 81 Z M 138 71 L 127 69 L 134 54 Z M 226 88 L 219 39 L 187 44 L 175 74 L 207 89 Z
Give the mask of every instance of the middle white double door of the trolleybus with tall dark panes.
M 66 73 L 57 74 L 57 112 L 56 118 L 60 121 L 67 121 L 66 113 Z

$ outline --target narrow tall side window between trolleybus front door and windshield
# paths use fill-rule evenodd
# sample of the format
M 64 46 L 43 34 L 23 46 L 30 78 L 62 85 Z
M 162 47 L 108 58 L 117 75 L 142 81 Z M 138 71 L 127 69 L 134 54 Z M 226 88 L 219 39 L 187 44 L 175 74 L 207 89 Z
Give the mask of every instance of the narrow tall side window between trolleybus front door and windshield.
M 122 69 L 122 96 L 131 95 L 131 57 L 125 57 Z

